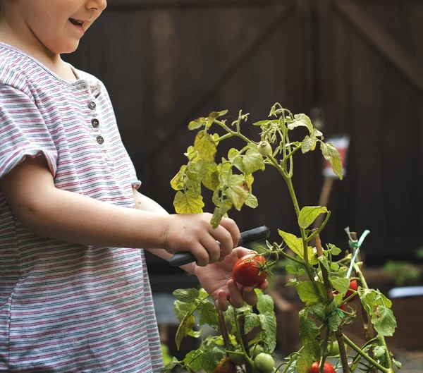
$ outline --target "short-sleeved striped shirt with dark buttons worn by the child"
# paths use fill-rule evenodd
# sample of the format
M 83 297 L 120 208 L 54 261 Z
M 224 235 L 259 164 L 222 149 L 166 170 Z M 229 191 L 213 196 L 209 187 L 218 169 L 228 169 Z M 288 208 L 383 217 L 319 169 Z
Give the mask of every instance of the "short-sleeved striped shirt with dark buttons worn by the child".
M 43 156 L 56 188 L 134 209 L 109 95 L 0 43 L 0 178 Z M 0 372 L 160 372 L 144 252 L 76 245 L 20 224 L 0 190 Z

